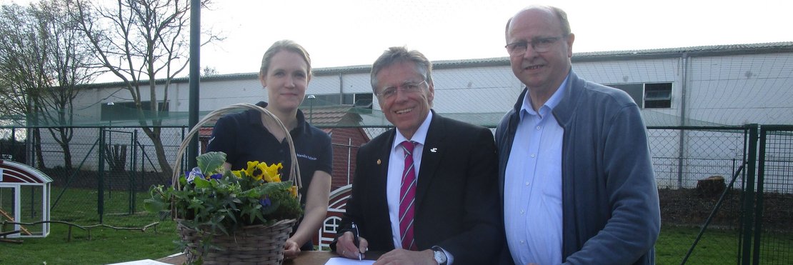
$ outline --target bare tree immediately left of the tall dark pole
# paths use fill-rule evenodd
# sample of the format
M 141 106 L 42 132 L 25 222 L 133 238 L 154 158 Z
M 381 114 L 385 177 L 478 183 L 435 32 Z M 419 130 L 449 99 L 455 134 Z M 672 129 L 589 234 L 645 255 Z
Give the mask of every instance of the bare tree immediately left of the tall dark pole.
M 209 0 L 201 0 L 202 8 L 208 4 Z M 168 104 L 170 81 L 189 62 L 190 0 L 117 0 L 113 6 L 75 0 L 70 10 L 81 21 L 79 29 L 88 36 L 102 67 L 125 84 L 159 166 L 170 175 L 161 136 L 163 106 Z M 202 37 L 203 44 L 218 40 L 211 33 L 205 35 L 209 37 Z M 159 90 L 158 79 L 162 80 Z M 151 102 L 141 104 L 144 100 Z

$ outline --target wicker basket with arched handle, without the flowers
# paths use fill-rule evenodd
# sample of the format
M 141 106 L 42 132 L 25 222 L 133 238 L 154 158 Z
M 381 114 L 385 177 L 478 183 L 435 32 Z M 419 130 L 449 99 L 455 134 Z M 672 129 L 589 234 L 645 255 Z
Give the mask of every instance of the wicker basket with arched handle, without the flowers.
M 227 113 L 239 111 L 239 109 L 255 109 L 262 113 L 262 117 L 267 121 L 276 125 L 276 129 L 282 129 L 285 132 L 287 143 L 289 143 L 289 151 L 291 152 L 291 160 L 289 176 L 294 180 L 293 185 L 297 186 L 300 190 L 301 178 L 300 168 L 297 167 L 297 156 L 294 150 L 292 137 L 289 136 L 289 130 L 278 120 L 272 113 L 266 109 L 248 103 L 239 103 L 231 106 L 226 106 L 221 109 L 216 109 L 207 114 L 197 125 L 187 132 L 182 145 L 179 146 L 176 160 L 174 162 L 174 175 L 172 183 L 179 189 L 179 167 L 182 163 L 182 156 L 185 153 L 187 145 L 202 125 L 207 122 L 221 117 Z M 298 193 L 298 201 L 300 194 Z M 175 214 L 175 211 L 173 211 Z M 175 217 L 175 216 L 174 216 Z M 284 260 L 284 244 L 289 239 L 289 233 L 292 232 L 292 227 L 296 222 L 295 219 L 278 221 L 273 225 L 251 225 L 237 229 L 230 233 L 230 235 L 216 234 L 206 235 L 203 232 L 198 232 L 190 227 L 183 225 L 185 221 L 176 219 L 178 225 L 177 230 L 182 241 L 187 242 L 185 253 L 187 255 L 187 262 L 193 263 L 199 259 L 203 260 L 204 264 L 281 264 Z M 201 240 L 211 238 L 212 245 L 220 248 L 201 248 Z

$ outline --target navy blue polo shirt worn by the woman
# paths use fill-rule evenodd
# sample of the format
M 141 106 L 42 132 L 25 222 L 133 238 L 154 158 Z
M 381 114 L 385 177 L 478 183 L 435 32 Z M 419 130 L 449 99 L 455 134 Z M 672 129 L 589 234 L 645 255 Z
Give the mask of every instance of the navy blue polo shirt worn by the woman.
M 262 108 L 266 102 L 256 103 Z M 215 123 L 212 137 L 207 144 L 207 152 L 226 153 L 226 162 L 232 164 L 232 171 L 247 167 L 248 161 L 282 163 L 281 179 L 291 179 L 289 167 L 289 143 L 278 141 L 272 133 L 262 125 L 262 113 L 248 109 L 241 113 L 232 113 L 220 117 Z M 315 171 L 332 172 L 333 152 L 331 137 L 312 125 L 308 125 L 305 116 L 297 109 L 297 127 L 289 132 L 297 153 L 297 166 L 300 167 L 302 188 L 301 203 L 305 203 L 306 192 L 311 184 Z

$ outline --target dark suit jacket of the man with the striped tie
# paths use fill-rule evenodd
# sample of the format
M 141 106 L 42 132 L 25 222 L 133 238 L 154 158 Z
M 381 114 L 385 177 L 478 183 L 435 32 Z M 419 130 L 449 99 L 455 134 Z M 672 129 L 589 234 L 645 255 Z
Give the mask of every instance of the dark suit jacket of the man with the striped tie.
M 375 252 L 394 249 L 385 182 L 395 133 L 384 132 L 358 150 L 338 234 L 354 221 Z M 497 167 L 489 129 L 433 112 L 416 186 L 413 234 L 419 251 L 437 245 L 454 255 L 455 264 L 492 263 L 504 242 Z

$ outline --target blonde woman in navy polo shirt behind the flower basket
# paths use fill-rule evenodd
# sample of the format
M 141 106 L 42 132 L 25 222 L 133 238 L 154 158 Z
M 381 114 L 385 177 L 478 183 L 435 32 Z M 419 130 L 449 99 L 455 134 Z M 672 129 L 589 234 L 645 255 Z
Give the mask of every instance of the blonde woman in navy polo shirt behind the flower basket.
M 331 190 L 332 150 L 327 133 L 309 125 L 300 109 L 311 81 L 311 58 L 300 44 L 291 40 L 275 42 L 262 56 L 259 82 L 269 102 L 259 102 L 289 129 L 303 187 L 299 191 L 305 215 L 286 240 L 284 255 L 293 258 L 301 250 L 312 250 L 312 236 L 320 229 L 328 211 Z M 289 144 L 285 132 L 275 129 L 261 113 L 247 110 L 221 117 L 215 125 L 207 151 L 225 152 L 226 167 L 239 170 L 248 161 L 282 163 L 282 179 L 289 172 Z

